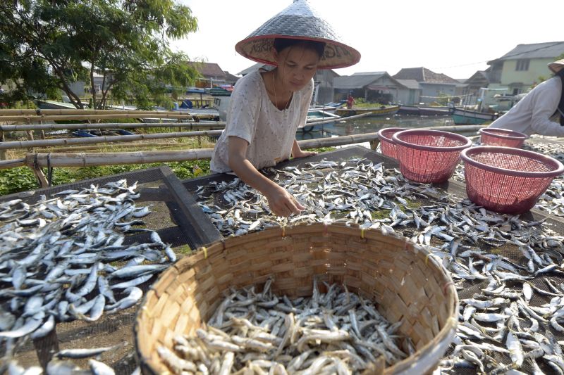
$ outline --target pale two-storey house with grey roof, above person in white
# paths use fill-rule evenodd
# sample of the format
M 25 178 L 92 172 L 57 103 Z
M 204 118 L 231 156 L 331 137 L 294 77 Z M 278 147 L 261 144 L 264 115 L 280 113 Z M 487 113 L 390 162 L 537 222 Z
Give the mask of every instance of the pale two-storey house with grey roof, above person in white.
M 490 89 L 484 104 L 497 105 L 494 95 L 526 93 L 534 84 L 551 76 L 548 63 L 564 53 L 564 42 L 517 44 L 500 58 L 488 61 Z

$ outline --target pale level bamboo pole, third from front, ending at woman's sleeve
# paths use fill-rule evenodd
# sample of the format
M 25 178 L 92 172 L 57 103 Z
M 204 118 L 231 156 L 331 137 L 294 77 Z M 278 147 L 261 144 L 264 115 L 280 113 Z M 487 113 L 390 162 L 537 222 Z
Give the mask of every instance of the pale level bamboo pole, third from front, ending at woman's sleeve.
M 190 129 L 202 128 L 224 128 L 226 122 L 168 122 L 168 123 L 155 123 L 152 122 L 103 122 L 100 124 L 30 124 L 30 125 L 0 125 L 0 131 L 4 132 L 24 132 L 27 130 L 79 130 L 79 129 L 135 129 L 135 128 L 148 128 L 148 127 L 188 127 Z

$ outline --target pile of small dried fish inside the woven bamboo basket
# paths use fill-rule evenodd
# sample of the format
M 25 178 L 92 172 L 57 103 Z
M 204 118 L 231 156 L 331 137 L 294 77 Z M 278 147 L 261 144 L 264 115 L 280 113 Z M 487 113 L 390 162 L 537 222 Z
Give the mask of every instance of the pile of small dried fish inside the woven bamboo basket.
M 314 280 L 311 298 L 289 300 L 270 285 L 232 290 L 197 337 L 175 336 L 174 351 L 159 346 L 161 360 L 176 374 L 351 374 L 415 352 L 396 334 L 401 322 L 390 324 L 346 286 L 320 293 Z

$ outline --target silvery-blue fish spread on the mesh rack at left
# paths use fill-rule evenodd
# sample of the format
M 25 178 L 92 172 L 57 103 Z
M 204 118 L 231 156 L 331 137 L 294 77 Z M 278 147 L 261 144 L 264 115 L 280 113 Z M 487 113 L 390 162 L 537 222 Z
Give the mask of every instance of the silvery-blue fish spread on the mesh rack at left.
M 136 227 L 149 208 L 135 205 L 135 189 L 124 179 L 42 196 L 34 205 L 0 203 L 0 338 L 7 353 L 18 338 L 45 336 L 56 322 L 94 322 L 135 305 L 143 294 L 137 286 L 176 259 L 154 231 L 151 243 L 124 244 L 126 234 L 148 231 Z

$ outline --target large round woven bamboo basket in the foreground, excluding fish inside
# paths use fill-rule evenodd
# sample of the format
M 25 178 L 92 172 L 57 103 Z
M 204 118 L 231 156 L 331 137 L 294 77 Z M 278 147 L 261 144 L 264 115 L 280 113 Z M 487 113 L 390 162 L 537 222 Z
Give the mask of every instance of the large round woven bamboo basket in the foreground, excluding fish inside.
M 453 281 L 429 250 L 381 231 L 343 224 L 277 227 L 216 241 L 166 270 L 145 295 L 135 321 L 135 348 L 144 374 L 168 368 L 157 346 L 173 348 L 176 334 L 195 335 L 230 286 L 255 284 L 289 298 L 312 294 L 313 278 L 346 284 L 378 304 L 389 322 L 402 321 L 417 352 L 372 374 L 425 374 L 448 349 L 458 320 Z M 320 292 L 325 292 L 320 287 Z

